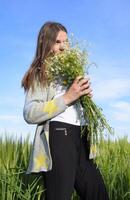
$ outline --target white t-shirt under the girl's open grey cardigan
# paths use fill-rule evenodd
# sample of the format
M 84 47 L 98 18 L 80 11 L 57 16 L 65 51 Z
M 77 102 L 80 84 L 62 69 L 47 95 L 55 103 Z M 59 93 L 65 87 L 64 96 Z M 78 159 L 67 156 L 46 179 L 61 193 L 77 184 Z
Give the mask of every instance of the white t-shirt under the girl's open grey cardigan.
M 57 85 L 56 86 L 56 97 L 63 95 L 66 92 L 66 87 Z M 86 125 L 83 115 L 83 108 L 79 102 L 68 106 L 63 113 L 60 113 L 56 117 L 52 118 L 51 121 L 61 121 L 73 125 Z

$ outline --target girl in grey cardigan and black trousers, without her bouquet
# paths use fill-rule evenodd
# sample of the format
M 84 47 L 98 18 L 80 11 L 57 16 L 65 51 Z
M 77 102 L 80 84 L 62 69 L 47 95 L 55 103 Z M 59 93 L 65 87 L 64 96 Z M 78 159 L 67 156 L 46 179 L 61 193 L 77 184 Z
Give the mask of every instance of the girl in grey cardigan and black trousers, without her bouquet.
M 89 78 L 76 77 L 69 89 L 48 84 L 44 61 L 63 51 L 67 40 L 62 24 L 45 23 L 35 58 L 22 80 L 24 119 L 37 124 L 27 173 L 42 172 L 46 200 L 70 200 L 74 189 L 82 200 L 108 200 L 102 176 L 89 159 L 87 137 L 80 137 L 80 126 L 85 124 L 76 100 L 92 97 Z

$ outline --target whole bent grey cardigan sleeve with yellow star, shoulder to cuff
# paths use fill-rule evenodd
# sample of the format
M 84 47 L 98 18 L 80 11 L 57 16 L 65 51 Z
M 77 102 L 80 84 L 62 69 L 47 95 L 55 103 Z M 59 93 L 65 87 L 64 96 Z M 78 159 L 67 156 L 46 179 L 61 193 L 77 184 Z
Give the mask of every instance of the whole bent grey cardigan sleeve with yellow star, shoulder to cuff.
M 66 107 L 63 95 L 48 99 L 47 89 L 37 87 L 33 92 L 30 89 L 26 93 L 23 116 L 29 124 L 41 124 L 64 112 Z

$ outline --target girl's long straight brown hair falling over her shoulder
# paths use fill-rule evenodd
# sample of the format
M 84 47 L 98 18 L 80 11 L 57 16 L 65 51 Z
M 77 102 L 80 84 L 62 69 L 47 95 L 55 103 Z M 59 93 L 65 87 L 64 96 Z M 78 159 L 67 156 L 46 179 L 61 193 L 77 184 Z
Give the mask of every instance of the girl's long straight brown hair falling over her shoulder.
M 34 80 L 45 86 L 47 83 L 45 59 L 51 54 L 59 31 L 67 33 L 67 29 L 57 22 L 46 22 L 40 29 L 37 39 L 36 54 L 28 71 L 22 79 L 22 87 L 28 91 L 34 87 Z

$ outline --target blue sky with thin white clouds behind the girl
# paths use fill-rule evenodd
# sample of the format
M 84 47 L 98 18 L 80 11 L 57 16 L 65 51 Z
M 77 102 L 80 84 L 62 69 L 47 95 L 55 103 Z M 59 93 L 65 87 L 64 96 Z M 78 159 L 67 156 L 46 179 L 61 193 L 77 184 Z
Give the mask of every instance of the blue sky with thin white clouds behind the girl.
M 32 139 L 35 125 L 24 122 L 21 79 L 35 54 L 46 21 L 63 23 L 87 41 L 94 101 L 116 136 L 130 139 L 130 1 L 0 1 L 0 135 Z

